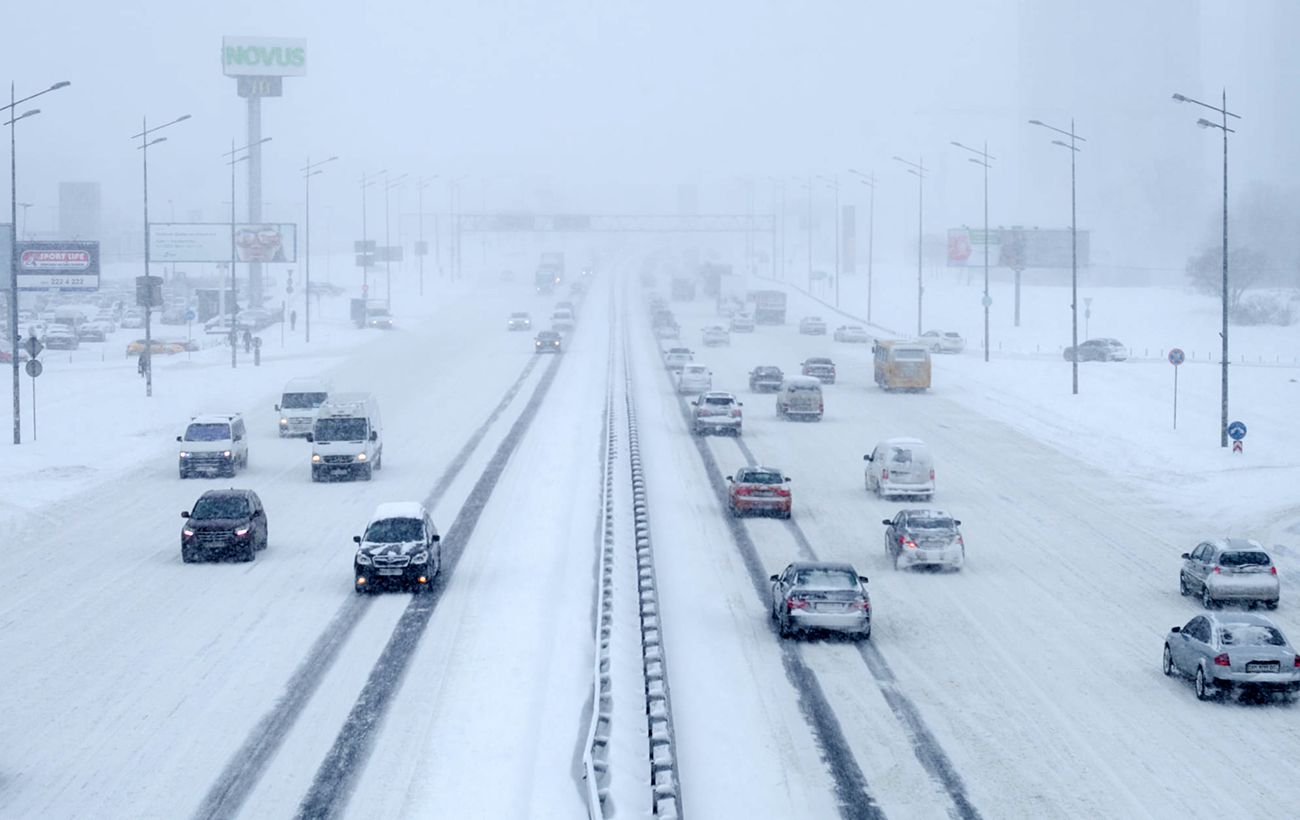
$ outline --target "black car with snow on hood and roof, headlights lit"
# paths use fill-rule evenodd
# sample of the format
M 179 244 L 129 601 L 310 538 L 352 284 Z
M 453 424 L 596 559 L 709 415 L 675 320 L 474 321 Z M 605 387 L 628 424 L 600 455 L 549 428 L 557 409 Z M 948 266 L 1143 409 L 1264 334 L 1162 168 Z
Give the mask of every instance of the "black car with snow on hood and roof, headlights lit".
M 442 569 L 442 539 L 419 502 L 380 504 L 365 534 L 352 541 L 352 582 L 358 593 L 381 586 L 426 590 Z

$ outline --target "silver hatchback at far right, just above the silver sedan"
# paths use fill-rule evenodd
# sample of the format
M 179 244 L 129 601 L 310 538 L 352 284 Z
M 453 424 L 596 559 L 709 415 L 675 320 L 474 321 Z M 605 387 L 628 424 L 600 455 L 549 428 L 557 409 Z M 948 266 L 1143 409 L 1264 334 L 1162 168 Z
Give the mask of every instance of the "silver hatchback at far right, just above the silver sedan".
M 1264 604 L 1278 608 L 1278 568 L 1257 541 L 1221 538 L 1183 552 L 1178 591 L 1200 595 L 1209 609 L 1222 603 Z

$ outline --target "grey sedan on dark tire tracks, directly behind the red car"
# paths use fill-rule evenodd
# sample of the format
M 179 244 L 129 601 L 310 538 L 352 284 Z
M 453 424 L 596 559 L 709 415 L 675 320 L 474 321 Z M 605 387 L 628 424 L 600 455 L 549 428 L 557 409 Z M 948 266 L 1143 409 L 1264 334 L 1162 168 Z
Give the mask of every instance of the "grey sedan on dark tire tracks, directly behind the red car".
M 796 561 L 771 581 L 772 620 L 783 638 L 820 629 L 871 637 L 867 578 L 852 564 Z

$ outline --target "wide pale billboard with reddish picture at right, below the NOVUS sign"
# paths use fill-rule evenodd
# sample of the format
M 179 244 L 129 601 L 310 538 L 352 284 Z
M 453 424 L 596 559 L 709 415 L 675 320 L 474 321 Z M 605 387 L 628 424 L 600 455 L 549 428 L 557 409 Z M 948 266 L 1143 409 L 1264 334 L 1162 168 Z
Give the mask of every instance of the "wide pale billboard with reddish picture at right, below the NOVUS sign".
M 151 222 L 150 261 L 229 263 L 229 222 Z M 298 226 L 292 222 L 235 225 L 237 263 L 298 261 Z

